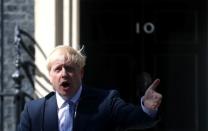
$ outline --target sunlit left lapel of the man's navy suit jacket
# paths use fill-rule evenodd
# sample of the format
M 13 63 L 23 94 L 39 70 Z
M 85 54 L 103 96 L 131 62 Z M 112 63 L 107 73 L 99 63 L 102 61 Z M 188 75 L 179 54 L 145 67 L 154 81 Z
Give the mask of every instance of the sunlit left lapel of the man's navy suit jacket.
M 55 95 L 46 100 L 44 115 L 44 131 L 58 131 L 58 114 Z

